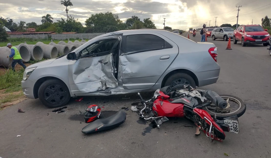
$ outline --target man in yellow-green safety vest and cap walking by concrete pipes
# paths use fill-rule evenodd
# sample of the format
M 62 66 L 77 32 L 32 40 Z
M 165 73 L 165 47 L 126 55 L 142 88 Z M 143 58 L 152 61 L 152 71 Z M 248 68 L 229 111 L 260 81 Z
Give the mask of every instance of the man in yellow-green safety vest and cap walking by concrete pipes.
M 14 67 L 17 63 L 25 69 L 26 66 L 22 63 L 22 57 L 19 50 L 16 47 L 12 46 L 11 43 L 8 43 L 7 47 L 11 50 L 11 54 L 7 56 L 7 58 L 10 57 L 11 59 L 13 59 L 11 63 L 12 70 L 15 71 Z

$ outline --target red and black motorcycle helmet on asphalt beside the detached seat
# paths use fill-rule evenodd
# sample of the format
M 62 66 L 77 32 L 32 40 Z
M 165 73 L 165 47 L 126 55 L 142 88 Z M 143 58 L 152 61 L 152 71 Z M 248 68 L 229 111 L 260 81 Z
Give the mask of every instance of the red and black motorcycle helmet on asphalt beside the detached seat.
M 84 113 L 84 119 L 86 123 L 92 122 L 98 119 L 101 115 L 101 108 L 98 105 L 89 105 Z

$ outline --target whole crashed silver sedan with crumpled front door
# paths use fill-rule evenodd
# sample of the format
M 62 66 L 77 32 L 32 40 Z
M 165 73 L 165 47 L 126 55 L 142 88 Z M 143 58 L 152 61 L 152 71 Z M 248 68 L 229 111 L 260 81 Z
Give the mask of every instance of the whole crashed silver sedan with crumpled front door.
M 49 108 L 71 97 L 201 87 L 220 74 L 217 47 L 166 30 L 121 30 L 97 36 L 55 59 L 28 66 L 22 90 Z

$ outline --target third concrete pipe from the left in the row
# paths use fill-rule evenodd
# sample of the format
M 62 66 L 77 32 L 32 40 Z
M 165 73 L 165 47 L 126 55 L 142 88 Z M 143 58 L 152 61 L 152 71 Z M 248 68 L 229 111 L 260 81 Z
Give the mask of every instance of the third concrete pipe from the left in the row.
M 20 45 L 26 46 L 30 50 L 31 60 L 41 60 L 43 58 L 43 50 L 37 44 L 21 43 Z

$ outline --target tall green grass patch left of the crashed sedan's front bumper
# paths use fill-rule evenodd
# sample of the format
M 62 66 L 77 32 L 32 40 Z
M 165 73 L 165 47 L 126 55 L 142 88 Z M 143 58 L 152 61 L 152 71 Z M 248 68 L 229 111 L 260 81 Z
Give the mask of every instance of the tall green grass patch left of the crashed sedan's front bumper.
M 6 70 L 6 73 L 0 75 L 0 90 L 4 92 L 16 92 L 21 89 L 21 81 L 24 69 L 13 72 L 11 69 Z

